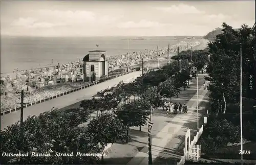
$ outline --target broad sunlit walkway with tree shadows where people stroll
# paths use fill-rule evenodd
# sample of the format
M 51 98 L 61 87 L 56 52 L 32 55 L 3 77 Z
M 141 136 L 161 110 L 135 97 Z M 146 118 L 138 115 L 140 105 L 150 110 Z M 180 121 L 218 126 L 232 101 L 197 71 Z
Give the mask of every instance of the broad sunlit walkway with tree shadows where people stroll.
M 207 90 L 202 89 L 203 77 L 199 75 L 199 119 L 206 113 L 204 107 L 207 104 Z M 196 83 L 191 84 L 189 90 L 182 90 L 178 98 L 173 98 L 173 102 L 186 103 L 187 114 L 166 114 L 161 108 L 154 112 L 152 122 L 152 156 L 153 164 L 166 164 L 170 158 L 177 161 L 183 153 L 177 152 L 185 138 L 187 128 L 193 126 L 197 128 L 197 95 Z M 201 127 L 202 122 L 199 122 Z M 132 139 L 128 144 L 113 144 L 112 152 L 105 157 L 107 164 L 148 164 L 148 135 L 147 125 L 139 131 L 138 127 L 131 128 Z M 182 148 L 183 149 L 183 148 Z M 173 162 L 174 163 L 174 162 Z M 169 163 L 168 164 L 172 164 Z

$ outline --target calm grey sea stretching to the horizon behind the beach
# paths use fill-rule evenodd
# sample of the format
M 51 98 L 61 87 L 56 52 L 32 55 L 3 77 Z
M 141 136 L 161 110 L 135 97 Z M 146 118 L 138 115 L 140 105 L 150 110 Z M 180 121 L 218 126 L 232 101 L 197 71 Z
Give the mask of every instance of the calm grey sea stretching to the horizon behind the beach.
M 53 64 L 78 61 L 89 51 L 103 50 L 109 56 L 146 49 L 167 48 L 188 36 L 169 37 L 13 37 L 1 36 L 1 74 Z

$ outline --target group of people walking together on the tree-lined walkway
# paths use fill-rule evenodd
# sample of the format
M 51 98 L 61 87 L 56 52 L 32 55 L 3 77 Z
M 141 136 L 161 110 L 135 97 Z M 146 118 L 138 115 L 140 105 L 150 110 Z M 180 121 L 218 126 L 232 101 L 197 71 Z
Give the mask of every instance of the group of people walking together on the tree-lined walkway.
M 183 105 L 181 103 L 172 103 L 172 102 L 167 102 L 165 101 L 164 103 L 164 106 L 165 106 L 165 109 L 167 114 L 168 113 L 174 113 L 174 114 L 177 114 L 178 113 L 178 109 L 179 109 L 179 112 L 181 114 L 181 112 L 184 112 L 184 113 L 187 113 L 187 106 L 186 104 L 184 103 Z

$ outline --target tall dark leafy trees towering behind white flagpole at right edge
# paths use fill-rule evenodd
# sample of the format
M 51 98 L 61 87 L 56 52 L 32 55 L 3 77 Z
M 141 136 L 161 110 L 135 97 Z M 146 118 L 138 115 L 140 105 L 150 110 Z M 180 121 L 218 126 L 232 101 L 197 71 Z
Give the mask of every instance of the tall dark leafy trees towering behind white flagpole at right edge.
M 225 112 L 225 105 L 239 102 L 240 97 L 240 43 L 242 43 L 242 76 L 243 84 L 248 84 L 248 62 L 255 61 L 252 54 L 255 45 L 255 33 L 243 25 L 239 31 L 232 29 L 226 23 L 223 23 L 223 33 L 217 35 L 216 40 L 210 42 L 209 52 L 210 62 L 207 66 L 207 72 L 211 81 L 210 91 L 212 100 L 218 102 L 220 112 Z M 255 38 L 255 37 L 254 37 Z M 254 41 L 253 41 L 254 40 Z M 248 96 L 248 85 L 243 85 L 243 96 Z M 224 106 L 222 104 L 224 103 Z

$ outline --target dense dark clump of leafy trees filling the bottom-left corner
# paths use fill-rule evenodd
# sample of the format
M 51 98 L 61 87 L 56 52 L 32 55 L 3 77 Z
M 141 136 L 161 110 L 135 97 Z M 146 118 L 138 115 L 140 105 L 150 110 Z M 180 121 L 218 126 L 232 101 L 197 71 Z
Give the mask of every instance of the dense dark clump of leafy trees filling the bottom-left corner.
M 71 153 L 98 153 L 98 146 L 91 144 L 85 140 L 86 132 L 79 130 L 75 126 L 73 117 L 70 113 L 79 112 L 63 112 L 62 115 L 58 111 L 47 111 L 39 116 L 28 117 L 20 129 L 19 123 L 8 126 L 7 129 L 1 131 L 1 152 L 11 153 L 49 153 L 55 155 L 57 152 Z M 72 114 L 73 115 L 73 114 Z M 71 115 L 71 116 L 72 116 Z M 67 117 L 68 116 L 68 117 Z M 82 117 L 78 117 L 82 119 Z M 79 123 L 79 122 L 75 122 Z M 4 144 L 4 145 L 3 145 Z M 2 162 L 7 163 L 13 157 L 5 157 Z M 63 164 L 63 163 L 95 163 L 97 156 L 92 157 L 20 157 L 15 163 L 47 163 L 47 164 Z

